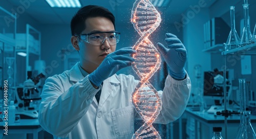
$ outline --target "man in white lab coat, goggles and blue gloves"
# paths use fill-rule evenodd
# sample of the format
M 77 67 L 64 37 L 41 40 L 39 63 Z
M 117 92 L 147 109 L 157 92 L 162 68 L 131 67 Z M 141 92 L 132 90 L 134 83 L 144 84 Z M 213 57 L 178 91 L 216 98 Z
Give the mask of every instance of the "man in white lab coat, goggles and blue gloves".
M 135 60 L 129 55 L 136 51 L 131 47 L 115 51 L 120 34 L 115 31 L 114 15 L 103 7 L 81 8 L 72 18 L 71 32 L 80 62 L 46 80 L 40 125 L 54 138 L 131 138 L 134 119 L 139 117 L 131 103 L 138 80 L 115 73 L 131 66 Z M 186 49 L 175 35 L 166 37 L 169 48 L 158 43 L 170 69 L 165 88 L 159 91 L 163 105 L 155 123 L 162 124 L 182 115 L 191 90 L 184 70 Z

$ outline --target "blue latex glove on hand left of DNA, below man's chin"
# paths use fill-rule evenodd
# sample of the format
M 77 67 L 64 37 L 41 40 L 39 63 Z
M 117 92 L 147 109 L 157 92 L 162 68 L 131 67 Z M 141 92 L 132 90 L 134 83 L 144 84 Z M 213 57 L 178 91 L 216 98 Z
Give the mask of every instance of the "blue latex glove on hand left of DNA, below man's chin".
M 108 54 L 99 67 L 88 76 L 89 80 L 96 87 L 99 87 L 103 80 L 114 75 L 118 70 L 131 66 L 131 62 L 135 60 L 124 54 L 133 54 L 135 52 L 136 50 L 133 50 L 132 47 L 124 47 Z

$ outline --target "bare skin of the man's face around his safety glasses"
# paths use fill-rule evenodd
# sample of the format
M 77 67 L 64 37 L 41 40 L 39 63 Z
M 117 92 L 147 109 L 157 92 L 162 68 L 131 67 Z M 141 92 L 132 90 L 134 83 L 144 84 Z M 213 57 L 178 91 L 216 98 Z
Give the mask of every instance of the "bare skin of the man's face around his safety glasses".
M 112 21 L 105 17 L 87 18 L 85 24 L 86 29 L 81 34 L 115 31 Z M 103 44 L 97 46 L 81 39 L 79 40 L 81 66 L 86 68 L 87 72 L 95 70 L 107 54 L 116 50 L 116 44 L 110 45 L 108 40 L 105 40 Z

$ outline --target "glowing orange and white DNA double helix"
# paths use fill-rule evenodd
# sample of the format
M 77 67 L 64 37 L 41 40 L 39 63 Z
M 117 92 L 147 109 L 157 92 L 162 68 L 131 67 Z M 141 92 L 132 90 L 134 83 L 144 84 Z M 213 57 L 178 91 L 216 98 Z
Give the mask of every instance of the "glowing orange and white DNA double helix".
M 136 0 L 131 22 L 140 35 L 133 46 L 137 52 L 131 55 L 135 59 L 132 68 L 141 79 L 132 93 L 131 101 L 144 121 L 132 138 L 161 138 L 152 123 L 162 109 L 162 101 L 157 90 L 148 81 L 161 65 L 160 54 L 148 39 L 160 25 L 161 16 L 149 0 Z

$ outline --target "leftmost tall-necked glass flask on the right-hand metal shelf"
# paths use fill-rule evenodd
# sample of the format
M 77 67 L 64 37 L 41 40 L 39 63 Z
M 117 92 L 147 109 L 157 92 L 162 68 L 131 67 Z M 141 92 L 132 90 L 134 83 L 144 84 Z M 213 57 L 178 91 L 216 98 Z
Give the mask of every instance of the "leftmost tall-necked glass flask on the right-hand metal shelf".
M 231 30 L 227 38 L 225 50 L 237 48 L 240 44 L 240 37 L 236 31 L 235 17 L 234 17 L 234 6 L 230 6 L 230 19 L 231 19 Z

